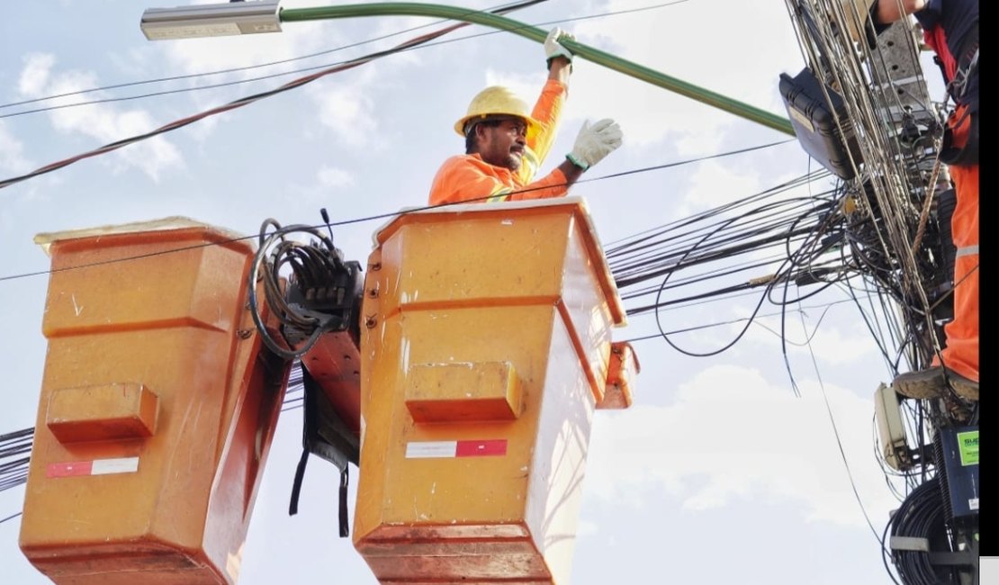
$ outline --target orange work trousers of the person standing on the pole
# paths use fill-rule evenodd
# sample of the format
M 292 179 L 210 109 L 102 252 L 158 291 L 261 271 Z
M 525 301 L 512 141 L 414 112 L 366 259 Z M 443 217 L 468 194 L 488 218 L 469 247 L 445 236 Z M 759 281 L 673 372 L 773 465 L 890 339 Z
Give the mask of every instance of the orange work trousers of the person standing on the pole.
M 952 120 L 960 120 L 960 114 Z M 965 117 L 965 121 L 971 117 Z M 954 142 L 964 144 L 968 124 L 954 128 Z M 978 164 L 950 167 L 957 193 L 951 233 L 954 263 L 954 320 L 944 326 L 947 337 L 943 363 L 966 378 L 978 381 Z

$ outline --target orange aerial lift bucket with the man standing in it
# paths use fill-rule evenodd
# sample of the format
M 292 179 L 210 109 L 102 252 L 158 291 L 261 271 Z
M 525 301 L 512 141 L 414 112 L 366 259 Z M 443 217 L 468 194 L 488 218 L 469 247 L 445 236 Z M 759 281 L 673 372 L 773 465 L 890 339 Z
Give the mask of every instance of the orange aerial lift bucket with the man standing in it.
M 567 583 L 593 410 L 637 370 L 582 201 L 407 213 L 375 241 L 355 547 L 383 584 Z

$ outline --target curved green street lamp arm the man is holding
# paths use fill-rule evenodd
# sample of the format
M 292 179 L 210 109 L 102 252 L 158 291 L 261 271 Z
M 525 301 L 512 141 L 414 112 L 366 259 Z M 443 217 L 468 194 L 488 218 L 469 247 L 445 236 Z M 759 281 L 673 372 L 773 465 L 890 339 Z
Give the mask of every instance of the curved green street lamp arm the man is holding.
M 515 20 L 492 14 L 461 8 L 459 6 L 442 6 L 440 4 L 417 4 L 414 2 L 375 2 L 372 4 L 347 4 L 343 6 L 324 6 L 320 8 L 283 8 L 280 13 L 282 22 L 302 22 L 309 20 L 328 20 L 336 18 L 354 18 L 358 16 L 432 16 L 446 18 L 449 20 L 459 20 L 488 26 L 495 29 L 511 32 L 537 43 L 543 43 L 547 37 L 547 32 L 533 26 L 522 24 Z M 649 69 L 637 63 L 631 63 L 625 59 L 615 57 L 609 53 L 600 51 L 577 43 L 572 40 L 563 39 L 559 41 L 573 55 L 581 57 L 587 61 L 602 65 L 618 73 L 623 73 L 629 77 L 639 79 L 654 86 L 667 89 L 671 92 L 686 96 L 690 99 L 713 106 L 719 110 L 724 110 L 729 114 L 734 114 L 740 118 L 745 118 L 772 128 L 784 134 L 794 136 L 794 129 L 791 123 L 780 116 L 776 116 L 765 110 L 754 108 L 742 102 L 716 94 L 712 91 L 699 88 L 695 85 L 669 77 L 653 69 Z

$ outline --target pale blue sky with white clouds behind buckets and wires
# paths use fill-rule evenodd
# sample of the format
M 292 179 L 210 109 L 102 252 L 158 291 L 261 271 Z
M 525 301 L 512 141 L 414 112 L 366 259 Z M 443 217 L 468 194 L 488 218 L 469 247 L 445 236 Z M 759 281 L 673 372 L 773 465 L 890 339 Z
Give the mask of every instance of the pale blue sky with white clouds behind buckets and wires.
M 436 22 L 355 18 L 285 23 L 280 34 L 147 41 L 143 9 L 172 5 L 50 0 L 6 7 L 0 180 L 306 73 L 252 78 L 383 50 L 429 29 L 376 39 Z M 778 76 L 804 66 L 786 8 L 773 0 L 549 0 L 509 17 L 559 26 L 583 44 L 780 116 Z M 439 165 L 464 148 L 452 127 L 471 98 L 504 84 L 531 101 L 545 77 L 541 45 L 522 37 L 472 26 L 445 39 L 0 189 L 0 322 L 7 331 L 0 336 L 0 433 L 32 426 L 38 408 L 49 259 L 34 244 L 36 234 L 183 216 L 251 236 L 268 218 L 319 224 L 323 208 L 336 223 L 424 205 Z M 623 146 L 586 178 L 703 159 L 576 185 L 572 195 L 585 200 L 604 244 L 816 168 L 780 132 L 581 59 L 573 67 L 542 172 L 571 149 L 583 121 L 606 117 L 620 124 Z M 33 101 L 163 78 L 180 79 Z M 229 85 L 205 89 L 221 84 Z M 120 99 L 185 89 L 197 91 Z M 28 112 L 81 101 L 98 103 Z M 710 158 L 771 143 L 782 144 Z M 385 221 L 337 226 L 335 242 L 365 264 Z M 642 338 L 633 342 L 641 371 L 630 408 L 594 415 L 574 585 L 892 582 L 875 532 L 898 499 L 875 456 L 871 399 L 889 373 L 858 313 L 848 303 L 829 306 L 795 311 L 786 355 L 774 307 L 763 312 L 775 316 L 706 357 L 642 338 L 656 330 L 649 316 L 614 331 L 615 339 Z M 746 315 L 736 303 L 721 310 L 675 318 Z M 706 329 L 684 342 L 710 352 L 732 330 Z M 302 410 L 292 409 L 279 420 L 239 583 L 376 583 L 350 539 L 337 535 L 333 466 L 313 458 L 299 514 L 287 513 L 301 419 Z M 20 510 L 24 489 L 0 492 L 0 518 Z M 0 524 L 5 582 L 48 583 L 21 554 L 19 527 L 19 518 Z

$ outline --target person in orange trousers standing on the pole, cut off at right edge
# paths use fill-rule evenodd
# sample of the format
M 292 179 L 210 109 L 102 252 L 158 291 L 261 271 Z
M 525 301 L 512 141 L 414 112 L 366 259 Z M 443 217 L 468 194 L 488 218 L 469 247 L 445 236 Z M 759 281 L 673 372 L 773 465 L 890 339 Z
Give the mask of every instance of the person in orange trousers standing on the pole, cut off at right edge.
M 902 373 L 892 385 L 914 398 L 943 395 L 949 386 L 978 400 L 978 0 L 871 1 L 875 29 L 908 14 L 916 17 L 955 103 L 940 154 L 957 193 L 951 219 L 954 318 L 944 326 L 946 344 L 933 366 Z

